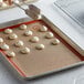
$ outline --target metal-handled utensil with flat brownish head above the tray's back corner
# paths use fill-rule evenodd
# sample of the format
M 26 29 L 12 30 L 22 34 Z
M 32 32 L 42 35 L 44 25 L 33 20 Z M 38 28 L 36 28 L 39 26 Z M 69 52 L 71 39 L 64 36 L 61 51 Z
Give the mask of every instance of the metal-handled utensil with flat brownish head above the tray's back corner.
M 13 3 L 19 7 L 20 9 L 22 9 L 27 15 L 29 15 L 30 18 L 32 19 L 41 19 L 42 15 L 41 15 L 41 11 L 39 8 L 36 8 L 35 6 L 33 4 L 27 4 L 24 1 L 22 1 L 23 4 L 28 6 L 27 9 L 22 8 L 19 3 L 17 3 L 15 1 L 13 1 Z

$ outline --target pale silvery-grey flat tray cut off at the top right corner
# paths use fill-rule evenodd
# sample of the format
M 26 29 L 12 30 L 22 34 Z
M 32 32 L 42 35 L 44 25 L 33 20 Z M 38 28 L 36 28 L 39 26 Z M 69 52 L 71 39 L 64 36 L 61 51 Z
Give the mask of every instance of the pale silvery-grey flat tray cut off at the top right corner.
M 84 0 L 56 0 L 54 6 L 84 29 Z

